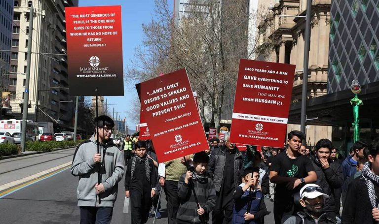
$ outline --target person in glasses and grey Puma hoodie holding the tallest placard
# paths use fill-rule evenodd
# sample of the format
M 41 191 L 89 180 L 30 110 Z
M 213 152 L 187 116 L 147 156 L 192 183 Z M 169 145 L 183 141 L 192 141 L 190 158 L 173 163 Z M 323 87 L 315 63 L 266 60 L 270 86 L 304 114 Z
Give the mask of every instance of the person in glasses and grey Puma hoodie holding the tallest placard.
M 71 166 L 71 173 L 79 177 L 76 196 L 82 224 L 111 223 L 117 183 L 124 174 L 122 154 L 111 139 L 114 121 L 103 115 L 96 124 L 95 134 L 77 146 Z

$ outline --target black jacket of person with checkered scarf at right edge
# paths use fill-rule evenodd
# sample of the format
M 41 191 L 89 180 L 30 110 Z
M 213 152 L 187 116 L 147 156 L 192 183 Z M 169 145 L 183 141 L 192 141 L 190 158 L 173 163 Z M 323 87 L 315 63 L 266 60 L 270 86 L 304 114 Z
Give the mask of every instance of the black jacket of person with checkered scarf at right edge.
M 379 195 L 379 186 L 374 184 L 375 194 Z M 376 204 L 378 205 L 377 199 Z M 372 215 L 371 205 L 366 181 L 361 175 L 354 179 L 346 193 L 343 204 L 342 223 L 343 224 L 377 224 Z

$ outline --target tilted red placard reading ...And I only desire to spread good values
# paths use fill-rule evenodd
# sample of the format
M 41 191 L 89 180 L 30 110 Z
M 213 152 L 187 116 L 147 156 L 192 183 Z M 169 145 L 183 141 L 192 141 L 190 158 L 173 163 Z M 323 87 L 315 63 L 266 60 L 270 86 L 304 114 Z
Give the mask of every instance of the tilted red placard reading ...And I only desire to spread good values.
M 160 162 L 209 149 L 185 68 L 136 88 Z

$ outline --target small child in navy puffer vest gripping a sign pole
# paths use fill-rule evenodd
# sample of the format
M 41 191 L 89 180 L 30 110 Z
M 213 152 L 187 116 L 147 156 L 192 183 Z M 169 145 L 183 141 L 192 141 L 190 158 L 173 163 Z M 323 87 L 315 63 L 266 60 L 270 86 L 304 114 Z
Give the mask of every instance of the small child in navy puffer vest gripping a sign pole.
M 262 224 L 267 209 L 262 191 L 258 188 L 259 168 L 248 167 L 241 175 L 242 183 L 234 192 L 232 224 Z

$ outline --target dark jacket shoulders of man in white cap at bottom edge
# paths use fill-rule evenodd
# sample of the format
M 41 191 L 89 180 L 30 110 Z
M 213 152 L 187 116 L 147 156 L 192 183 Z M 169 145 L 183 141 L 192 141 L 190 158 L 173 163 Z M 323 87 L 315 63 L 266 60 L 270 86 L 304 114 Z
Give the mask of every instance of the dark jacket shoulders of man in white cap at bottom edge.
M 315 224 L 315 220 L 305 212 L 298 212 L 296 216 L 287 216 L 282 220 L 282 224 Z M 328 218 L 324 213 L 318 217 L 317 224 L 336 224 L 337 222 Z

